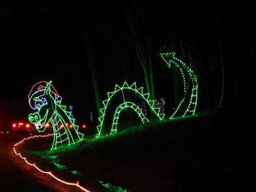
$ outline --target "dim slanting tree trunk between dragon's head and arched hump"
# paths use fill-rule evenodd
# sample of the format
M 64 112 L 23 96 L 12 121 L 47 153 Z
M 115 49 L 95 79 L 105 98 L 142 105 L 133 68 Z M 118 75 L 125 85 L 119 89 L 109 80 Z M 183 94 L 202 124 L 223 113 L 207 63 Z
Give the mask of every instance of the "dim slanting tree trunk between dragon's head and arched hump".
M 84 13 L 82 14 L 82 19 L 83 19 L 83 26 L 84 26 L 84 35 L 83 35 L 83 40 L 84 40 L 84 48 L 86 49 L 86 54 L 88 58 L 88 65 L 92 77 L 92 83 L 93 83 L 93 89 L 94 89 L 94 95 L 95 95 L 95 101 L 96 101 L 96 106 L 98 110 L 98 117 L 100 115 L 100 107 L 101 107 L 101 99 L 100 99 L 100 93 L 99 93 L 99 87 L 98 87 L 98 81 L 97 81 L 97 73 L 95 69 L 95 60 L 94 60 L 94 55 L 93 55 L 93 48 L 90 42 L 89 38 L 89 28 L 86 22 L 86 16 Z

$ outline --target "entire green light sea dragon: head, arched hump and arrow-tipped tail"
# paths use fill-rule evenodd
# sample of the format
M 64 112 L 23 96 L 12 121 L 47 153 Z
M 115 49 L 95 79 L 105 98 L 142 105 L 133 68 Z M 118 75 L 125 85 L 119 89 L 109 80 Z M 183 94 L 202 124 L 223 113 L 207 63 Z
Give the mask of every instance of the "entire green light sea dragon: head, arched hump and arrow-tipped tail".
M 183 97 L 169 117 L 186 115 L 194 115 L 196 112 L 198 101 L 198 80 L 195 69 L 187 66 L 182 60 L 178 59 L 174 52 L 160 53 L 161 58 L 166 63 L 168 68 L 178 69 L 183 79 Z M 160 112 L 160 108 L 156 106 L 155 100 L 150 99 L 148 93 L 143 92 L 143 87 L 137 88 L 136 82 L 130 86 L 124 81 L 122 86 L 116 84 L 113 92 L 108 92 L 108 98 L 102 102 L 103 108 L 100 109 L 99 124 L 97 126 L 98 134 L 96 138 L 104 135 L 102 128 L 106 121 L 106 114 L 111 101 L 118 101 L 114 113 L 111 113 L 112 119 L 111 129 L 108 129 L 108 134 L 115 134 L 117 132 L 117 125 L 120 113 L 126 109 L 136 112 L 142 123 L 149 122 L 146 116 L 142 113 L 138 103 L 130 100 L 125 93 L 129 91 L 134 96 L 140 98 L 146 103 L 147 108 L 151 110 L 152 114 L 162 120 L 164 113 Z M 118 99 L 118 95 L 123 99 Z M 57 93 L 56 89 L 52 86 L 51 81 L 40 81 L 32 87 L 29 94 L 29 104 L 36 112 L 29 115 L 29 121 L 36 126 L 37 131 L 44 132 L 46 125 L 51 123 L 54 132 L 54 139 L 51 149 L 56 149 L 63 144 L 72 144 L 81 141 L 84 135 L 79 132 L 79 127 L 74 123 L 74 119 L 70 117 L 70 112 L 66 111 L 66 106 L 61 104 L 62 98 Z M 69 129 L 66 123 L 71 124 L 73 129 Z M 105 133 L 106 133 L 105 132 Z

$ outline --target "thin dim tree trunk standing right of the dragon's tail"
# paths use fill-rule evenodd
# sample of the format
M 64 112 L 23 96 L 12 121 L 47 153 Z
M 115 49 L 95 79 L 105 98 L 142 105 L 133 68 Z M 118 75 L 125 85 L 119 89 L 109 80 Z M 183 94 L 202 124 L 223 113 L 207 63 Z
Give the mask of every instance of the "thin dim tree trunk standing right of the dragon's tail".
M 221 98 L 219 102 L 219 108 L 221 108 L 223 104 L 223 97 L 224 97 L 224 90 L 225 90 L 225 70 L 224 70 L 224 63 L 223 63 L 223 54 L 222 54 L 222 48 L 221 48 L 217 10 L 215 10 L 215 18 L 216 18 L 216 25 L 217 25 L 217 38 L 218 38 L 218 46 L 219 46 L 220 57 L 221 57 L 221 71 L 222 71 Z

